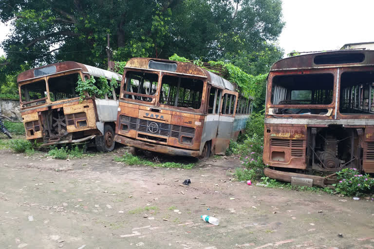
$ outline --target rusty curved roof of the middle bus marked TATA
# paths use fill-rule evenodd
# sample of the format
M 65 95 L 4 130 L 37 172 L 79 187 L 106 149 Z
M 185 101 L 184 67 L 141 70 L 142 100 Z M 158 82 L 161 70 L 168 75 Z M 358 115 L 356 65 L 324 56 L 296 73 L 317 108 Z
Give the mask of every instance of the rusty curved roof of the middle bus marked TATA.
M 180 62 L 156 58 L 131 58 L 126 63 L 125 68 L 168 71 L 176 74 L 204 77 L 208 79 L 208 82 L 212 84 L 212 86 L 235 91 L 234 85 L 231 84 L 228 80 L 225 80 L 221 76 L 218 76 L 213 72 L 206 71 L 205 69 L 190 62 Z

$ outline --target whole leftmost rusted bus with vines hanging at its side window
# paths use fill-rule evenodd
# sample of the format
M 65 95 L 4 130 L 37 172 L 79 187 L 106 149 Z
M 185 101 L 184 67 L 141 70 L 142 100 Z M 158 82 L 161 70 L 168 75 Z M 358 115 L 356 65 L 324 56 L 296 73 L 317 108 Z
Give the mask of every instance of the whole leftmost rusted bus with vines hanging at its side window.
M 118 83 L 121 75 L 73 61 L 59 62 L 24 71 L 18 76 L 21 115 L 28 140 L 43 145 L 84 142 L 95 138 L 100 151 L 114 148 L 118 89 L 104 98 L 88 96 L 79 103 L 78 79 L 104 77 Z M 95 83 L 95 84 L 96 84 Z M 117 92 L 116 92 L 117 91 Z

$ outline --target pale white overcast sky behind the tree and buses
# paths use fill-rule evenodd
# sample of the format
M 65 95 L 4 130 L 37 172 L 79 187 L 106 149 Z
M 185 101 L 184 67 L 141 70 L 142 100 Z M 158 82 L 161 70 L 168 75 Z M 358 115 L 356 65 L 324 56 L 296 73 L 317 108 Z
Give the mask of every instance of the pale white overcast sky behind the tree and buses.
M 340 49 L 346 43 L 374 41 L 374 0 L 283 0 L 284 54 Z M 0 42 L 10 25 L 0 23 Z M 0 55 L 3 54 L 0 48 Z

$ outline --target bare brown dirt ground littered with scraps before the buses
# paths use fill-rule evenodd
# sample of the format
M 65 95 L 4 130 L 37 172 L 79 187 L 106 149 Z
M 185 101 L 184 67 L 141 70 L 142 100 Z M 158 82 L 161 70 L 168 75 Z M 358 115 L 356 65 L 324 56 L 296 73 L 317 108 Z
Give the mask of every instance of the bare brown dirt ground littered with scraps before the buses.
M 233 158 L 183 170 L 125 166 L 121 153 L 0 150 L 0 248 L 374 249 L 373 201 L 231 182 Z

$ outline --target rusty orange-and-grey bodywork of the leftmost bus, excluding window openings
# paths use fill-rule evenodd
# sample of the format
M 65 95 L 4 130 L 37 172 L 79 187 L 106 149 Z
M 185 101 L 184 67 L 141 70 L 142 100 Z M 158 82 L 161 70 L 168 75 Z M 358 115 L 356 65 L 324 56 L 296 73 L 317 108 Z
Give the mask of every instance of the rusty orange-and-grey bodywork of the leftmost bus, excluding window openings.
M 112 123 L 112 126 L 115 126 L 118 106 L 116 100 L 87 97 L 79 103 L 79 97 L 60 97 L 56 101 L 52 98 L 50 79 L 55 80 L 71 74 L 77 74 L 82 79 L 85 76 L 104 76 L 107 80 L 112 78 L 121 80 L 122 77 L 111 71 L 72 61 L 59 62 L 20 73 L 18 76 L 19 98 L 26 139 L 37 139 L 43 141 L 44 145 L 83 142 L 96 135 L 102 135 L 104 124 Z M 35 82 L 45 84 L 46 97 L 28 102 L 23 101 L 22 86 L 28 87 L 28 84 Z

